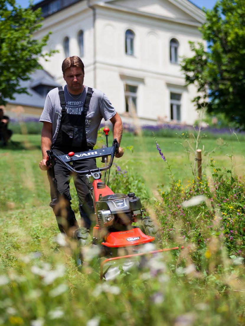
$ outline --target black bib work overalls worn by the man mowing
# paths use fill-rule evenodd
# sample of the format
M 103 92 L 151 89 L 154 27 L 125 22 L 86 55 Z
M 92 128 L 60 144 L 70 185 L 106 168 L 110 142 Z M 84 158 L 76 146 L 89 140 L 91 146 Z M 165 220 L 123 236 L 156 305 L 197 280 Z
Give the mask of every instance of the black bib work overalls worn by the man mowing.
M 56 138 L 56 141 L 52 145 L 52 149 L 57 154 L 67 154 L 69 152 L 82 152 L 92 147 L 87 146 L 86 132 L 85 132 L 85 119 L 86 114 L 89 109 L 89 103 L 92 96 L 92 88 L 88 88 L 86 99 L 83 106 L 83 111 L 81 116 L 68 114 L 66 111 L 66 101 L 64 97 L 64 90 L 62 87 L 58 87 L 60 105 L 61 105 L 61 121 L 59 125 L 59 131 Z M 83 161 L 73 162 L 73 168 L 76 170 L 92 170 L 96 168 L 95 159 L 87 159 Z M 75 214 L 71 209 L 70 205 L 70 189 L 69 183 L 71 179 L 71 172 L 67 170 L 62 164 L 57 162 L 54 166 L 55 180 L 52 178 L 51 169 L 48 170 L 48 179 L 50 182 L 50 194 L 51 194 L 51 203 L 50 206 L 53 208 L 56 220 L 58 223 L 59 230 L 61 232 L 67 233 L 69 228 L 74 227 L 78 228 L 78 224 L 75 218 Z M 91 208 L 91 200 L 89 197 L 89 189 L 85 183 L 85 176 L 81 175 L 72 175 L 74 185 L 77 190 L 79 198 L 79 209 L 82 215 L 84 199 L 86 205 Z M 60 200 L 63 199 L 63 200 Z M 84 206 L 86 206 L 84 203 Z M 87 216 L 85 216 L 87 215 Z M 88 218 L 89 214 L 83 214 L 85 223 L 83 226 L 89 228 L 91 222 Z

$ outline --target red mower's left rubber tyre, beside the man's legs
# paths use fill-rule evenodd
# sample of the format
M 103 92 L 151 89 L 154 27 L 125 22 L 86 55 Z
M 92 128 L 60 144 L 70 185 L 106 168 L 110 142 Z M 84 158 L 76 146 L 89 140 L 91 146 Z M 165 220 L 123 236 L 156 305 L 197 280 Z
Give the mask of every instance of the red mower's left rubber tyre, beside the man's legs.
M 74 238 L 78 241 L 78 246 L 74 252 L 74 258 L 78 267 L 78 270 L 81 272 L 82 264 L 83 264 L 83 256 L 81 252 L 81 248 L 84 246 L 88 246 L 92 243 L 91 235 L 89 230 L 86 228 L 79 228 L 74 231 Z

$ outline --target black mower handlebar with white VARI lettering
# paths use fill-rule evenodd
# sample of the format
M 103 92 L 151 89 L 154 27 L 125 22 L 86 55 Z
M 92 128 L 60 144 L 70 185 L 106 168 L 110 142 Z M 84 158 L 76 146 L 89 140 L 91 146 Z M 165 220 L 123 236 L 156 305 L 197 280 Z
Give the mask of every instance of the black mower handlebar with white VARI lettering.
M 114 160 L 114 156 L 116 153 L 116 150 L 118 149 L 119 145 L 117 142 L 117 139 L 114 139 L 112 147 L 105 147 L 105 148 L 99 148 L 96 149 L 94 151 L 85 151 L 85 152 L 79 152 L 79 153 L 72 153 L 70 152 L 67 155 L 58 155 L 57 153 L 55 153 L 54 150 L 50 150 L 47 151 L 47 161 L 46 164 L 47 166 L 49 166 L 51 164 L 51 167 L 54 167 L 55 165 L 55 161 L 59 161 L 61 164 L 63 164 L 68 170 L 76 173 L 76 174 L 88 174 L 91 172 L 98 172 L 98 171 L 105 171 L 111 168 L 113 160 Z M 74 155 L 70 155 L 70 154 L 74 154 Z M 93 169 L 93 170 L 86 170 L 86 171 L 77 171 L 74 168 L 71 167 L 70 164 L 68 164 L 69 162 L 73 162 L 73 161 L 82 161 L 84 159 L 87 158 L 96 158 L 96 157 L 103 157 L 103 156 L 111 156 L 110 162 L 107 166 L 103 167 L 103 168 L 97 168 L 97 169 Z

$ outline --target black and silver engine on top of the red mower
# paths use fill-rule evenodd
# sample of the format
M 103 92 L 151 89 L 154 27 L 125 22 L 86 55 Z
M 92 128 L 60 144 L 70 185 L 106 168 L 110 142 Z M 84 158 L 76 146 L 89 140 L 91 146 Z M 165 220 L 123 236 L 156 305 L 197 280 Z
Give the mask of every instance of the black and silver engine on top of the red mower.
M 113 227 L 122 230 L 138 218 L 142 218 L 142 205 L 134 193 L 100 196 L 96 211 L 100 228 Z

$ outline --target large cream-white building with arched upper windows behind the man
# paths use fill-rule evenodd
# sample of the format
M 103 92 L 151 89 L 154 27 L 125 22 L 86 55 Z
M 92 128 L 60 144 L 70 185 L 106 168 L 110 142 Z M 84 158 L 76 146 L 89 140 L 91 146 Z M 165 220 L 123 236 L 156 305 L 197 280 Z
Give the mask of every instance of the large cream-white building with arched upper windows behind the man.
M 52 31 L 45 50 L 59 50 L 41 61 L 58 83 L 61 64 L 78 55 L 84 83 L 102 90 L 124 121 L 134 108 L 143 124 L 192 124 L 197 112 L 194 86 L 185 86 L 181 56 L 191 56 L 188 41 L 201 41 L 204 12 L 188 0 L 44 0 L 41 38 Z

